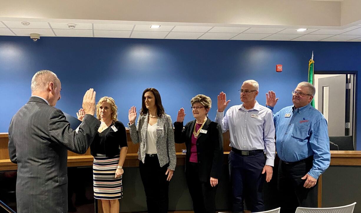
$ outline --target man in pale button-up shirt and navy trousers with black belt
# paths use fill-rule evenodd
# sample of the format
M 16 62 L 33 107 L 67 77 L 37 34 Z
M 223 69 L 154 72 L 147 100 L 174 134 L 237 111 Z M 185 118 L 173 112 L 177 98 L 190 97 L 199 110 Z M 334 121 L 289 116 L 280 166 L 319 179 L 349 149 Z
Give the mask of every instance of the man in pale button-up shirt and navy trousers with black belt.
M 258 83 L 247 80 L 242 84 L 241 105 L 232 106 L 223 117 L 228 103 L 226 94 L 218 96 L 216 122 L 222 132 L 229 130 L 232 150 L 228 156 L 232 185 L 232 212 L 243 212 L 243 199 L 252 212 L 264 211 L 264 173 L 272 177 L 275 157 L 275 128 L 272 111 L 256 101 Z M 266 150 L 266 159 L 264 156 Z

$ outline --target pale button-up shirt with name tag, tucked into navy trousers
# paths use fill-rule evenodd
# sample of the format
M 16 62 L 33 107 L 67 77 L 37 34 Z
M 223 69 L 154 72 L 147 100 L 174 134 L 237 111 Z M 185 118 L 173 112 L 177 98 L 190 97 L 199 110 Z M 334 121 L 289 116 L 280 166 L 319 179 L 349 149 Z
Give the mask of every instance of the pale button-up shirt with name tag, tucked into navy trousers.
M 222 132 L 229 130 L 230 146 L 238 150 L 264 150 L 266 148 L 266 165 L 274 165 L 275 128 L 273 114 L 267 107 L 256 101 L 255 106 L 247 110 L 243 104 L 232 106 L 224 112 L 218 112 L 216 122 Z

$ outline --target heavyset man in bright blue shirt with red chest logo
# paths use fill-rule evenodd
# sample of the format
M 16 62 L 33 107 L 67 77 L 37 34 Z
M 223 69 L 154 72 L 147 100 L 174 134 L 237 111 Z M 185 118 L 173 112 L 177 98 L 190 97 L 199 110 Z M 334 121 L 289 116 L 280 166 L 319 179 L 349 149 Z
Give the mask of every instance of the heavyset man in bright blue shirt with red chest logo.
M 285 107 L 273 116 L 280 159 L 281 212 L 295 212 L 297 207 L 317 208 L 317 179 L 330 165 L 327 121 L 310 105 L 315 92 L 312 84 L 299 83 L 292 91 L 293 106 Z M 271 110 L 277 101 L 273 91 L 266 94 L 266 105 Z

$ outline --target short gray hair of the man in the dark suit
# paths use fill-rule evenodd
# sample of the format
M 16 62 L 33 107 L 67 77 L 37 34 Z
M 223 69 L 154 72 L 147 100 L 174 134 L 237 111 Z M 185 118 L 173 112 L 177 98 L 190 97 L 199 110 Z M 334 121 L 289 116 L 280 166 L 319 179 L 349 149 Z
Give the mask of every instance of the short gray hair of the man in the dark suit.
M 59 79 L 54 72 L 50 70 L 40 70 L 32 76 L 31 92 L 44 92 L 50 82 L 53 82 L 55 84 L 55 88 L 57 88 L 58 81 Z

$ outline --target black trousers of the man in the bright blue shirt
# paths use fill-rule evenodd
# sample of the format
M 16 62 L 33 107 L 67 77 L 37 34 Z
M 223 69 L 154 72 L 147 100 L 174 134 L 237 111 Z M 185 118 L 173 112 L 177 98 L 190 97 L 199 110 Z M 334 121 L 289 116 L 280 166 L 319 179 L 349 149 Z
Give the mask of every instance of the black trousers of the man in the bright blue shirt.
M 295 212 L 297 207 L 317 208 L 318 181 L 312 188 L 303 187 L 301 179 L 313 166 L 313 156 L 293 163 L 279 161 L 278 190 L 281 212 Z

